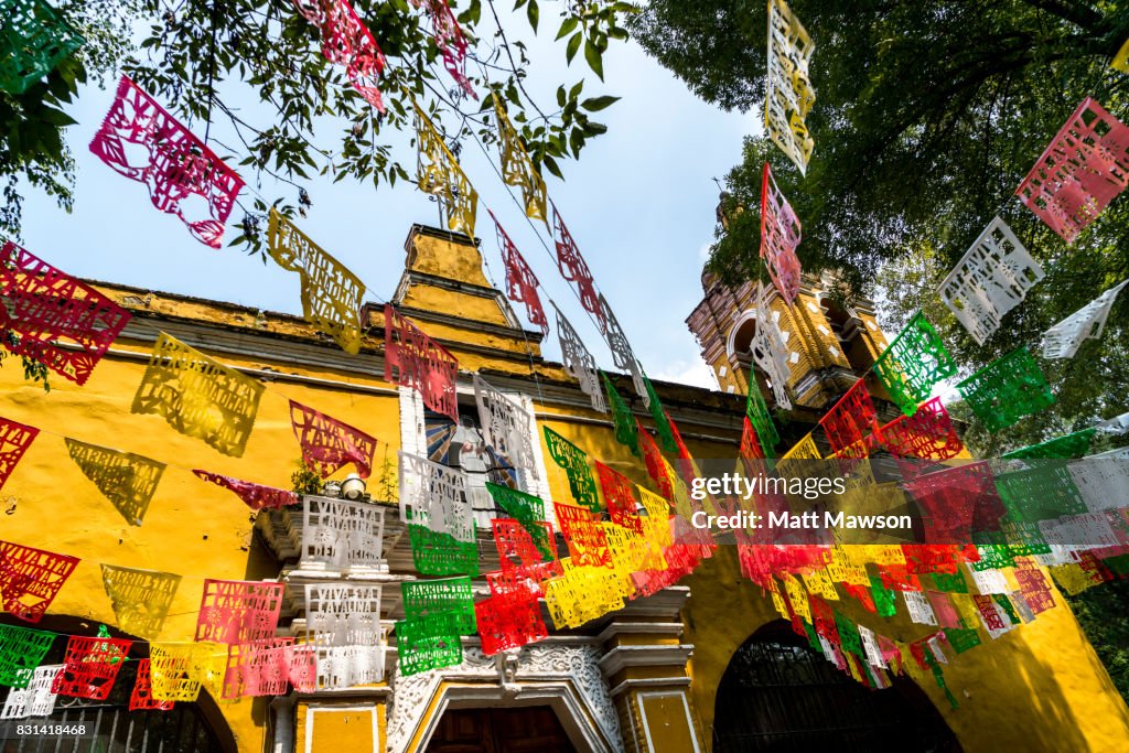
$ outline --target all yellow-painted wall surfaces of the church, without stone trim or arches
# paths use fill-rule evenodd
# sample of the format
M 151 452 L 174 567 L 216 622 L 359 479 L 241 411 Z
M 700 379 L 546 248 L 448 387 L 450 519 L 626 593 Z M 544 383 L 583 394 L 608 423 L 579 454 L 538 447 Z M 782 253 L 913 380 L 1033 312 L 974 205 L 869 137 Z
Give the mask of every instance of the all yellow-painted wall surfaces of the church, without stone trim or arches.
M 439 265 L 435 269 L 457 269 L 472 274 L 474 264 L 480 262 L 465 261 L 465 248 L 450 252 L 450 268 Z M 436 260 L 441 256 L 441 249 L 429 247 L 426 251 L 414 257 L 417 271 L 438 264 Z M 476 251 L 473 256 L 478 259 Z M 429 291 L 429 286 L 421 282 L 409 286 L 408 294 L 418 295 L 413 300 L 421 305 L 450 304 L 445 298 L 448 291 L 444 290 L 440 295 L 439 288 L 431 288 Z M 292 317 L 256 318 L 254 313 L 205 301 L 146 297 L 145 294 L 126 290 L 112 292 L 119 300 L 138 309 L 139 316 L 152 317 L 155 326 L 160 326 L 160 317 L 183 317 L 210 322 L 226 331 L 257 332 L 261 338 L 256 340 L 256 345 L 265 352 L 283 353 L 288 343 L 294 341 L 301 341 L 306 347 L 320 341 L 307 325 Z M 428 298 L 432 295 L 434 298 Z M 501 321 L 497 318 L 501 316 L 497 303 L 481 297 L 475 301 L 475 306 L 482 307 L 475 315 L 487 321 Z M 458 309 L 462 313 L 466 310 Z M 378 316 L 370 321 L 383 324 Z M 432 323 L 421 326 L 434 335 L 441 333 L 465 345 L 505 348 L 499 344 L 505 338 L 497 334 L 450 324 L 445 330 Z M 367 350 L 356 361 L 360 365 L 358 371 L 342 371 L 329 366 L 299 367 L 282 356 L 265 360 L 213 353 L 219 360 L 234 366 L 271 368 L 281 375 L 310 376 L 336 383 L 298 384 L 285 378 L 272 382 L 263 396 L 254 432 L 242 458 L 220 455 L 198 439 L 178 435 L 159 417 L 132 414 L 130 405 L 141 380 L 142 360 L 110 356 L 85 387 L 77 388 L 53 378 L 50 394 L 44 394 L 36 385 L 26 384 L 16 365 L 9 364 L 0 369 L 0 415 L 40 427 L 44 434 L 0 491 L 7 513 L 2 518 L 0 537 L 82 558 L 82 563 L 56 599 L 52 614 L 89 620 L 91 633 L 97 622 L 114 623 L 100 583 L 99 562 L 185 576 L 172 608 L 174 616 L 168 620 L 161 639 L 191 640 L 204 577 L 272 578 L 278 570 L 273 560 L 252 539 L 251 516 L 243 504 L 229 492 L 199 481 L 189 473 L 189 469 L 202 467 L 288 487 L 299 448 L 291 432 L 287 399 L 318 409 L 377 437 L 380 440 L 377 466 L 387 462 L 394 469 L 395 452 L 400 446 L 397 397 L 392 393 L 364 392 L 364 388 L 392 387 L 380 378 L 373 357 L 373 349 L 379 345 L 379 338 L 366 339 Z M 558 382 L 566 378 L 557 366 L 531 366 L 525 343 L 518 350 L 516 338 L 508 345 L 509 354 L 464 348 L 457 353 L 461 367 L 464 370 L 497 368 L 514 376 L 536 368 L 539 379 Z M 200 347 L 209 352 L 207 344 Z M 115 349 L 143 354 L 148 352 L 149 343 L 121 340 Z M 332 360 L 330 354 L 338 357 L 338 351 L 330 344 L 325 345 L 325 352 L 326 362 Z M 535 387 L 531 388 L 533 392 L 536 392 Z M 627 388 L 622 392 L 629 396 Z M 664 402 L 679 420 L 691 452 L 699 457 L 732 457 L 734 443 L 699 441 L 691 436 L 695 432 L 725 432 L 706 430 L 682 420 L 686 408 L 701 409 L 703 401 L 709 401 L 719 410 L 726 405 L 726 413 L 739 414 L 739 401 L 727 399 L 726 402 L 702 391 L 664 387 Z M 592 457 L 636 482 L 651 485 L 642 461 L 615 441 L 607 424 L 609 417 L 580 404 L 562 405 L 543 399 L 535 399 L 535 406 L 542 417 L 540 426 L 552 427 Z M 735 428 L 730 432 L 734 439 L 737 426 L 734 421 Z M 82 476 L 67 455 L 61 435 L 176 464 L 166 471 L 141 527 L 126 525 L 113 506 Z M 551 499 L 571 501 L 567 479 L 548 458 L 548 453 L 546 465 Z M 379 469 L 374 471 L 374 475 L 378 473 Z M 369 491 L 380 496 L 380 490 L 373 484 Z M 694 656 L 689 666 L 693 677 L 691 713 L 702 720 L 701 738 L 708 741 L 716 690 L 726 665 L 736 648 L 758 627 L 776 619 L 776 615 L 769 599 L 741 577 L 730 548 L 721 548 L 712 560 L 706 561 L 697 573 L 683 583 L 692 589 L 684 610 L 686 633 L 683 637 L 684 642 L 694 645 Z M 902 616 L 879 622 L 852 606 L 847 606 L 846 611 L 864 624 L 899 640 L 909 641 L 924 634 L 920 627 L 907 624 Z M 1013 748 L 1129 750 L 1126 707 L 1066 606 L 1040 615 L 1033 624 L 1024 625 L 991 645 L 960 656 L 946 667 L 946 677 L 961 700 L 957 711 L 947 710 L 931 677 L 920 678 L 919 684 L 942 709 L 965 750 L 992 750 L 992 753 Z M 964 691 L 968 691 L 968 697 Z M 671 704 L 657 703 L 654 710 L 648 708 L 648 720 L 658 725 L 675 725 L 682 718 L 684 724 L 684 715 L 680 717 L 667 706 Z M 254 712 L 252 707 L 248 701 L 221 704 L 242 751 L 260 751 L 264 744 L 265 717 L 262 712 Z M 305 725 L 304 709 L 299 706 L 297 710 L 299 739 Z M 329 726 L 325 728 L 332 729 L 329 718 L 326 720 Z M 318 735 L 317 745 L 324 742 L 344 751 L 350 750 L 349 739 L 334 733 L 323 741 Z

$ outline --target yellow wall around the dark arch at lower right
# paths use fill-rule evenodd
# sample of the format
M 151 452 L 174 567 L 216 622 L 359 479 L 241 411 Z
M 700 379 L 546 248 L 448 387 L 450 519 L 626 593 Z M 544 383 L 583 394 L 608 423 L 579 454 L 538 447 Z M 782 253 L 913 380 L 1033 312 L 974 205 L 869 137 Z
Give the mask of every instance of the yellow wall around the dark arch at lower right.
M 691 588 L 684 611 L 685 640 L 694 643 L 691 691 L 710 738 L 717 688 L 729 659 L 761 625 L 779 616 L 769 596 L 742 577 L 733 548 L 719 548 L 683 584 Z M 981 630 L 983 643 L 944 666 L 960 703 L 956 710 L 931 674 L 919 672 L 905 653 L 911 676 L 969 753 L 1129 750 L 1129 709 L 1057 590 L 1054 599 L 1053 610 L 995 641 Z M 848 597 L 834 604 L 894 640 L 908 643 L 928 634 L 929 628 L 910 623 L 900 598 L 898 606 L 899 614 L 884 620 Z

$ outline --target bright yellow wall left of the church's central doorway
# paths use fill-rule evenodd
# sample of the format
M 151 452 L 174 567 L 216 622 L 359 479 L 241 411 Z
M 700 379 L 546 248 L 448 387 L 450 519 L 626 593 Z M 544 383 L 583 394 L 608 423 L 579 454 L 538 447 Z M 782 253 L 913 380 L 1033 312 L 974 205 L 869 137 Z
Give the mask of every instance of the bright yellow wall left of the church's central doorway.
M 115 295 L 119 299 L 122 294 Z M 204 315 L 207 307 L 150 300 L 152 309 Z M 235 324 L 231 316 L 210 310 L 207 318 Z M 251 326 L 253 315 L 243 315 Z M 268 329 L 305 333 L 308 327 L 277 319 Z M 269 341 L 268 341 L 269 342 Z M 119 340 L 115 350 L 148 352 L 146 343 Z M 203 347 L 207 351 L 207 345 Z M 329 352 L 329 351 L 327 351 Z M 190 473 L 204 469 L 266 484 L 290 487 L 290 474 L 300 457 L 290 428 L 287 399 L 297 400 L 352 423 L 380 440 L 377 464 L 385 457 L 395 469 L 400 446 L 399 405 L 395 396 L 366 395 L 350 384 L 388 386 L 375 376 L 310 369 L 263 359 L 218 356 L 242 367 L 270 367 L 282 374 L 315 376 L 341 382 L 343 389 L 286 383 L 269 385 L 254 431 L 243 457 L 221 455 L 203 441 L 182 436 L 157 415 L 130 412 L 145 362 L 110 356 L 84 387 L 52 377 L 52 389 L 25 383 L 18 361 L 0 368 L 0 415 L 38 427 L 42 432 L 0 490 L 0 539 L 81 558 L 81 563 L 55 599 L 51 614 L 115 625 L 102 585 L 99 563 L 161 570 L 184 576 L 163 640 L 192 640 L 203 578 L 274 578 L 278 567 L 252 539 L 252 517 L 228 491 L 204 483 Z M 137 453 L 170 464 L 161 478 L 143 525 L 130 526 L 70 459 L 63 436 Z M 172 465 L 175 464 L 175 465 Z M 349 469 L 351 470 L 351 469 Z M 342 471 L 339 475 L 343 475 Z M 374 475 L 378 471 L 374 471 Z M 371 489 L 371 487 L 370 487 Z M 375 491 L 375 490 L 374 490 Z M 62 640 L 62 639 L 60 639 Z M 252 702 L 220 703 L 240 750 L 262 746 L 262 715 L 252 715 Z

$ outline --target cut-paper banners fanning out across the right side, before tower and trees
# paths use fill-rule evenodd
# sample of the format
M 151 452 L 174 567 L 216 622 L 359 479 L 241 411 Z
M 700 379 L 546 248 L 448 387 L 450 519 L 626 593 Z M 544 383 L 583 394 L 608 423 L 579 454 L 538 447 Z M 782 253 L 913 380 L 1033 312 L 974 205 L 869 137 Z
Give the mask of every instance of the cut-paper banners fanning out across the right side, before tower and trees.
M 803 173 L 811 155 L 804 115 L 814 100 L 807 79 L 811 38 L 780 0 L 769 8 L 769 85 L 765 121 L 770 138 Z M 1129 132 L 1099 103 L 1085 99 L 1036 161 L 1016 194 L 1064 240 L 1078 234 L 1126 186 L 1118 165 L 1129 159 Z M 764 166 L 761 199 L 761 256 L 777 294 L 791 307 L 800 268 L 796 248 L 799 221 Z M 1044 272 L 1015 233 L 995 218 L 939 288 L 943 303 L 983 344 L 1005 315 L 1017 307 Z M 1129 281 L 1112 284 L 1078 312 L 1050 327 L 1042 338 L 1047 359 L 1071 358 L 1086 339 L 1100 338 L 1118 294 Z M 758 286 L 760 340 L 756 365 L 769 375 L 779 406 L 787 394 L 787 354 L 779 340 L 777 316 L 769 316 L 765 288 Z M 786 313 L 787 315 L 787 313 Z M 763 334 L 762 334 L 763 333 Z M 948 461 L 963 444 L 944 404 L 933 392 L 954 377 L 957 366 L 922 313 L 884 349 L 873 376 L 903 415 L 879 426 L 865 378 L 859 379 L 819 422 L 832 450 L 830 458 L 846 474 L 866 475 L 868 457 L 882 449 L 898 459 L 904 479 L 889 493 L 909 493 L 925 513 L 926 543 L 902 546 L 819 549 L 767 545 L 763 533 L 737 533 L 743 572 L 772 596 L 814 650 L 868 685 L 884 686 L 877 669 L 900 671 L 903 653 L 895 641 L 855 625 L 829 602 L 849 596 L 882 616 L 895 613 L 896 594 L 914 623 L 939 627 L 912 642 L 910 656 L 930 672 L 955 707 L 942 665 L 981 642 L 982 627 L 995 640 L 1054 604 L 1041 567 L 1049 567 L 1066 593 L 1129 575 L 1126 549 L 1124 450 L 1086 456 L 1096 429 L 1066 435 L 1013 450 L 999 462 L 979 462 L 921 474 L 921 463 Z M 957 384 L 957 392 L 977 419 L 1000 431 L 1051 405 L 1051 392 L 1026 347 L 1017 348 Z M 1110 429 L 1123 428 L 1112 420 Z M 750 472 L 756 461 L 776 455 L 779 435 L 760 389 L 750 389 L 741 456 Z M 821 458 L 808 435 L 777 461 L 782 475 L 800 473 L 805 462 Z M 889 485 L 889 484 L 887 484 Z M 874 494 L 883 484 L 873 479 L 859 489 Z M 1047 500 L 1053 500 L 1048 502 Z M 761 500 L 762 510 L 779 509 L 781 500 Z M 965 542 L 956 545 L 951 542 Z M 877 575 L 868 572 L 878 566 Z M 798 577 L 797 577 L 798 576 Z M 971 578 L 973 588 L 965 576 Z M 925 579 L 925 580 L 924 580 Z M 930 583 L 931 581 L 931 583 Z M 979 593 L 970 593 L 970 590 Z

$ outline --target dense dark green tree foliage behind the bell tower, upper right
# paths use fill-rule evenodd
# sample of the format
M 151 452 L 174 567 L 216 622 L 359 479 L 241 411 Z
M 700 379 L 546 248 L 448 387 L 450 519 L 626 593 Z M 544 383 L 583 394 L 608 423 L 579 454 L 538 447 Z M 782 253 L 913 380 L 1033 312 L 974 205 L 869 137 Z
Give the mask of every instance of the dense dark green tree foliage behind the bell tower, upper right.
M 815 42 L 816 99 L 807 117 L 815 152 L 803 177 L 764 134 L 746 139 L 726 176 L 727 228 L 718 230 L 711 271 L 730 283 L 760 273 L 755 208 L 768 160 L 803 222 L 805 270 L 839 270 L 849 294 L 884 304 L 894 331 L 926 308 L 965 375 L 1018 344 L 1034 349 L 1048 326 L 1129 277 L 1129 198 L 1114 201 L 1070 248 L 1014 199 L 1083 98 L 1129 120 L 1129 76 L 1109 67 L 1129 37 L 1129 2 L 789 6 Z M 767 24 L 764 3 L 654 0 L 629 28 L 695 94 L 750 110 L 764 100 Z M 1048 275 L 981 348 L 939 305 L 936 288 L 996 214 Z M 1101 342 L 1087 342 L 1073 360 L 1044 362 L 1058 405 L 996 444 L 1124 411 L 1127 319 L 1122 298 Z

